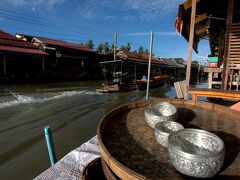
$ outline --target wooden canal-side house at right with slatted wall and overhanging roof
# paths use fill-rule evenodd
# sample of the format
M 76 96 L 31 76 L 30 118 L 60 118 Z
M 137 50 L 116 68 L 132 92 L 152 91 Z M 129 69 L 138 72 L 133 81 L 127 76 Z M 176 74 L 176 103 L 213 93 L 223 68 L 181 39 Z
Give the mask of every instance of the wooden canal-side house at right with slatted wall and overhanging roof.
M 240 85 L 240 1 L 187 0 L 179 5 L 175 27 L 189 41 L 187 88 L 191 74 L 192 49 L 197 52 L 198 42 L 208 39 L 211 55 L 208 59 L 208 68 L 204 69 L 208 73 L 208 88 L 238 91 Z M 191 91 L 191 93 L 194 92 Z

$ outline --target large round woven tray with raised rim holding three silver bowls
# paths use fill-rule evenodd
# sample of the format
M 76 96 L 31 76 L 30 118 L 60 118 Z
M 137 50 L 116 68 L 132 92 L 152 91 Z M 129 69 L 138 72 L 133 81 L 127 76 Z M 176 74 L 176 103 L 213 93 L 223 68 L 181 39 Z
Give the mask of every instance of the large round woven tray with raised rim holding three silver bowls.
M 225 143 L 225 160 L 218 178 L 240 178 L 240 112 L 208 102 L 153 99 L 124 104 L 107 113 L 97 134 L 102 158 L 120 179 L 188 179 L 171 165 L 168 150 L 157 143 L 145 122 L 144 107 L 170 102 L 185 128 L 203 129 Z

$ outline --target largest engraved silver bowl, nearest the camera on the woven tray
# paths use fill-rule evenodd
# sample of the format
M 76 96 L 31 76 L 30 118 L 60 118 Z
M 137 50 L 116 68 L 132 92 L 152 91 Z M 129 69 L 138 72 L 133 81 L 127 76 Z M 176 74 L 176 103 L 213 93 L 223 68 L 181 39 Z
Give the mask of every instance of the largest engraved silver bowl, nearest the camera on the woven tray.
M 208 178 L 216 175 L 224 161 L 224 142 L 215 134 L 183 129 L 170 134 L 168 151 L 171 163 L 183 174 Z

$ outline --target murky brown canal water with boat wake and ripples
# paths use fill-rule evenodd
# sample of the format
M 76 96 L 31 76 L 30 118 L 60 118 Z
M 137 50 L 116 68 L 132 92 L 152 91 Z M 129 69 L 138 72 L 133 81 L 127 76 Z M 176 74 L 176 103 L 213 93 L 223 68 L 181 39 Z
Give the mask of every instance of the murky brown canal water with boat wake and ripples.
M 57 159 L 96 134 L 100 119 L 146 91 L 103 94 L 101 81 L 0 86 L 0 179 L 33 179 L 50 167 L 44 126 L 53 131 Z M 207 87 L 197 83 L 193 87 Z M 174 86 L 150 89 L 150 98 L 176 97 Z

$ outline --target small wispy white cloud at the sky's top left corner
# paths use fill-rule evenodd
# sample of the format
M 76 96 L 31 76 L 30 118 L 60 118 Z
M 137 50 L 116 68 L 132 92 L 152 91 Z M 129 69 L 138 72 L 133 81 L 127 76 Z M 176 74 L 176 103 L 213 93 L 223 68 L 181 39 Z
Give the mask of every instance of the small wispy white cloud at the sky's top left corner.
M 62 5 L 66 0 L 7 0 L 9 5 L 14 7 L 27 7 L 33 11 L 44 9 L 52 10 L 56 6 Z

